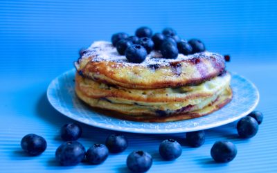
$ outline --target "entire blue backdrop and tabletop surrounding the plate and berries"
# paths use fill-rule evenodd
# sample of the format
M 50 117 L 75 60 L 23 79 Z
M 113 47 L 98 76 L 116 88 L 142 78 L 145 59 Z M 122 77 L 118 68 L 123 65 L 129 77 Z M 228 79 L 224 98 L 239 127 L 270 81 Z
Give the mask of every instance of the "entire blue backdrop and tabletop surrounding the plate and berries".
M 125 158 L 134 149 L 154 157 L 150 172 L 277 172 L 277 2 L 271 1 L 0 1 L 0 172 L 127 172 Z M 57 113 L 46 99 L 48 84 L 73 68 L 78 50 L 96 40 L 110 40 L 113 33 L 129 35 L 139 26 L 154 33 L 167 26 L 183 38 L 197 37 L 208 51 L 231 55 L 229 71 L 249 78 L 258 86 L 265 114 L 258 134 L 240 140 L 235 123 L 206 131 L 199 149 L 184 142 L 184 134 L 126 134 L 130 146 L 111 155 L 103 165 L 60 167 L 54 153 L 62 141 L 60 127 L 71 122 Z M 86 147 L 103 143 L 112 131 L 84 127 Z M 28 133 L 44 136 L 48 149 L 27 157 L 19 143 Z M 165 138 L 177 138 L 184 151 L 175 162 L 157 155 Z M 215 164 L 209 150 L 215 140 L 231 140 L 238 156 L 229 164 Z M 148 147 L 145 147 L 148 146 Z

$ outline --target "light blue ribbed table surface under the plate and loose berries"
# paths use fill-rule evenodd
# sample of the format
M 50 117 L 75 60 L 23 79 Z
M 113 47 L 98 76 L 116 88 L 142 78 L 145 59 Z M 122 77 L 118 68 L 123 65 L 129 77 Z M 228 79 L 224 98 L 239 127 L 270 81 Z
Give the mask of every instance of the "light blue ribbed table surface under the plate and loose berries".
M 0 86 L 0 172 L 129 172 L 125 165 L 127 155 L 143 149 L 153 157 L 149 172 L 277 172 L 276 123 L 277 92 L 276 63 L 230 62 L 229 71 L 251 80 L 260 91 L 256 110 L 265 118 L 258 134 L 251 139 L 238 138 L 236 122 L 206 130 L 206 142 L 202 147 L 191 148 L 186 144 L 185 134 L 131 134 L 123 133 L 129 147 L 120 154 L 110 154 L 102 165 L 80 163 L 75 167 L 62 167 L 55 161 L 55 149 L 62 143 L 60 127 L 74 122 L 51 107 L 46 98 L 48 84 L 56 73 L 25 72 L 1 73 Z M 3 70 L 4 71 L 4 70 Z M 88 148 L 93 143 L 105 143 L 105 138 L 114 133 L 82 124 L 84 134 L 80 142 Z M 35 133 L 46 138 L 48 147 L 40 156 L 26 156 L 21 150 L 21 138 Z M 175 138 L 181 143 L 183 153 L 176 161 L 163 161 L 158 152 L 159 143 L 166 138 Z M 231 163 L 215 163 L 210 150 L 216 140 L 230 140 L 238 147 L 238 155 Z

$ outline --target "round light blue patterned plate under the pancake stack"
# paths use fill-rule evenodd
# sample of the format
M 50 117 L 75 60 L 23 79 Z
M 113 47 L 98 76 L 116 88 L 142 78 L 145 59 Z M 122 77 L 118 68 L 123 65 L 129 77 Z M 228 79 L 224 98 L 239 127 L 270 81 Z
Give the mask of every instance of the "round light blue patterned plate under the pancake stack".
M 47 97 L 52 106 L 65 116 L 87 125 L 142 134 L 172 134 L 226 125 L 255 109 L 259 100 L 256 86 L 240 75 L 232 74 L 233 100 L 207 116 L 177 122 L 134 122 L 105 116 L 93 111 L 77 98 L 74 91 L 75 69 L 66 71 L 48 86 Z

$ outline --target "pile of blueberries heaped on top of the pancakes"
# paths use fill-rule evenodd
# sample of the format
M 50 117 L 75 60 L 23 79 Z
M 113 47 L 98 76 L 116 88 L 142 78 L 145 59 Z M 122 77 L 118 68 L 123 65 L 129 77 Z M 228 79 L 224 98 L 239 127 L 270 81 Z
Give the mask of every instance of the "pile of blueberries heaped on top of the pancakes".
M 164 28 L 162 33 L 152 35 L 152 30 L 143 26 L 136 30 L 135 35 L 116 33 L 111 36 L 111 42 L 118 53 L 125 55 L 129 62 L 143 62 L 153 49 L 161 51 L 164 58 L 176 58 L 179 53 L 190 55 L 206 50 L 199 39 L 181 39 L 172 28 Z

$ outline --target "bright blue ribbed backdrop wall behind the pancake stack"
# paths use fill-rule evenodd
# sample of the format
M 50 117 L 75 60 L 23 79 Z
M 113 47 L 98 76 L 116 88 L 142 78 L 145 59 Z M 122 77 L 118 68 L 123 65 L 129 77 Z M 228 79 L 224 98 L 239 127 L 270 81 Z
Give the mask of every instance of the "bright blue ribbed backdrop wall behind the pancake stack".
M 0 71 L 57 75 L 73 67 L 91 42 L 130 35 L 139 26 L 154 32 L 171 26 L 181 37 L 202 39 L 209 51 L 233 61 L 274 60 L 277 3 L 256 1 L 0 1 Z M 59 68 L 54 68 L 54 67 Z

